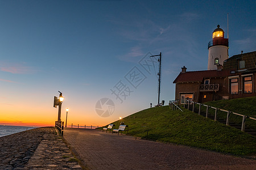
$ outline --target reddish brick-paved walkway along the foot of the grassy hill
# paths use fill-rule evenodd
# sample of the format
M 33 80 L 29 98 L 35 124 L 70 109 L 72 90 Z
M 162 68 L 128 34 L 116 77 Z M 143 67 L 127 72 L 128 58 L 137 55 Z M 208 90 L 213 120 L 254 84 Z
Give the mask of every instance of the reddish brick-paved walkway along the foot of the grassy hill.
M 256 160 L 91 129 L 64 138 L 88 169 L 256 169 Z

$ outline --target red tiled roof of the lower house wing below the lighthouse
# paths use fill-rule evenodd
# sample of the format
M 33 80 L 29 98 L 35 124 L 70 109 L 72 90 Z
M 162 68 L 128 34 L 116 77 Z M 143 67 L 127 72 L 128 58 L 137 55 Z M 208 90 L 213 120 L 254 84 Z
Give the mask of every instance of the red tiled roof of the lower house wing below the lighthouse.
M 207 78 L 221 78 L 232 76 L 230 70 L 204 70 L 204 71 L 187 71 L 180 73 L 174 80 L 174 83 L 179 82 L 201 82 Z

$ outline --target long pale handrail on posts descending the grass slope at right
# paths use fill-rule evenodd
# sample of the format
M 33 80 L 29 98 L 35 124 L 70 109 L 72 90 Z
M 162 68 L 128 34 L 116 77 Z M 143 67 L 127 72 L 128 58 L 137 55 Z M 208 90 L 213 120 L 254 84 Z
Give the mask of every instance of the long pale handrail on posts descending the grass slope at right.
M 243 114 L 240 114 L 240 113 L 235 113 L 235 112 L 226 111 L 225 109 L 215 108 L 215 107 L 211 107 L 211 106 L 209 106 L 209 105 L 205 105 L 205 104 L 201 104 L 201 103 L 196 103 L 195 101 L 190 101 L 190 100 L 186 100 L 186 99 L 185 99 L 185 103 L 188 103 L 188 108 L 189 108 L 189 103 L 193 103 L 193 108 L 194 108 L 194 104 L 199 104 L 199 105 L 200 105 L 200 106 L 199 106 L 199 114 L 200 114 L 200 108 L 201 108 L 201 106 L 207 107 L 206 117 L 208 117 L 208 109 L 209 109 L 209 108 L 216 109 L 214 121 L 217 121 L 217 111 L 227 112 L 226 125 L 229 125 L 229 117 L 230 117 L 230 114 L 231 114 L 231 113 L 232 113 L 232 114 L 236 114 L 236 115 L 238 115 L 238 116 L 242 116 L 242 117 L 243 117 L 243 120 L 242 120 L 241 131 L 245 131 L 245 120 L 246 120 L 246 118 L 250 118 L 251 120 L 256 120 L 256 118 L 254 118 L 254 117 L 250 117 L 250 116 L 243 115 Z M 192 111 L 192 112 L 193 112 L 193 111 Z

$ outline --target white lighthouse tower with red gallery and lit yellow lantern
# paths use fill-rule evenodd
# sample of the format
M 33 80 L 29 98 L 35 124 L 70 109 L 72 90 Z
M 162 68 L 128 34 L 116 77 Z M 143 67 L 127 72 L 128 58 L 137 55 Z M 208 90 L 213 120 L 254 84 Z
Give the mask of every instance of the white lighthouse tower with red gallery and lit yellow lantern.
M 212 33 L 212 41 L 208 43 L 208 70 L 217 70 L 229 58 L 229 39 L 224 39 L 224 31 L 217 25 Z

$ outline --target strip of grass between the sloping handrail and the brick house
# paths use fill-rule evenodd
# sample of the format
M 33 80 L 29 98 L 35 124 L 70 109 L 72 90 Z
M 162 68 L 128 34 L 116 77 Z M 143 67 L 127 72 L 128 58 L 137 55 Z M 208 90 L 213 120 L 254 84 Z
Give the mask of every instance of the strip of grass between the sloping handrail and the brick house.
M 246 97 L 240 99 L 230 99 L 230 100 L 218 100 L 218 101 L 209 101 L 204 103 L 206 105 L 210 105 L 212 107 L 225 109 L 227 111 L 243 114 L 246 116 L 256 118 L 256 97 Z M 204 107 L 204 110 L 206 108 Z M 213 109 L 210 109 L 210 114 L 214 114 Z M 218 117 L 226 119 L 226 112 L 218 112 Z M 234 122 L 236 124 L 242 124 L 242 117 L 237 116 L 235 114 L 230 115 L 230 122 Z M 246 126 L 251 129 L 256 130 L 256 121 L 251 120 L 250 118 L 246 118 Z

